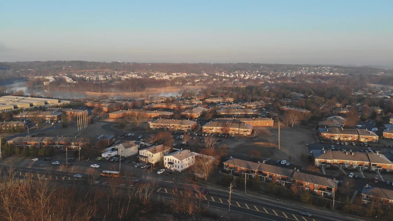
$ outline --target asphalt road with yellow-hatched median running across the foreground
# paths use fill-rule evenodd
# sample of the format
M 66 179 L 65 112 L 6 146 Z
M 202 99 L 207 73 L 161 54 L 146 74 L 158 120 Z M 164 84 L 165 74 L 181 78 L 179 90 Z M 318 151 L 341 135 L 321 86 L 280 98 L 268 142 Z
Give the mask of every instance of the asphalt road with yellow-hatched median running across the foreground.
M 8 165 L 0 164 L 1 167 L 7 168 Z M 48 182 L 55 182 L 68 186 L 80 186 L 88 188 L 104 188 L 111 189 L 111 185 L 116 186 L 116 190 L 129 192 L 132 188 L 136 188 L 143 183 L 152 183 L 150 179 L 141 179 L 140 177 L 121 177 L 116 184 L 111 179 L 100 177 L 97 174 L 83 174 L 81 179 L 74 178 L 74 172 L 63 172 L 51 169 L 14 167 L 17 170 L 17 177 L 23 179 L 27 174 L 33 174 L 37 179 L 46 179 Z M 3 170 L 3 174 L 6 173 Z M 164 175 L 165 176 L 165 175 Z M 41 177 L 41 178 L 39 178 Z M 141 184 L 131 186 L 132 181 L 140 179 Z M 200 195 L 201 190 L 208 190 L 208 195 Z M 195 186 L 186 183 L 175 183 L 170 181 L 155 180 L 153 195 L 155 197 L 163 197 L 166 199 L 175 199 L 176 194 L 185 195 L 186 197 L 201 199 L 201 204 L 221 208 L 223 211 L 228 210 L 229 203 L 231 211 L 261 217 L 263 220 L 272 221 L 359 221 L 369 219 L 358 219 L 332 213 L 326 210 L 312 209 L 292 202 L 275 201 L 272 199 L 255 197 L 250 194 L 244 194 L 234 190 L 231 194 L 229 202 L 229 190 L 214 187 Z M 312 217 L 302 217 L 299 215 L 301 211 L 309 211 Z

